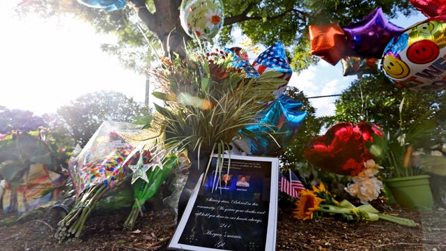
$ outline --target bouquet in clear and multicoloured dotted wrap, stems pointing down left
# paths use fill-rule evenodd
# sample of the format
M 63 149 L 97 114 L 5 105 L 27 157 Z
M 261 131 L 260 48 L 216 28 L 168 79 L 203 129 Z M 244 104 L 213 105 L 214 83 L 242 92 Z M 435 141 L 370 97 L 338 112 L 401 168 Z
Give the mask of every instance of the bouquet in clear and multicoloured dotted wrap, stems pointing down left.
M 79 238 L 84 223 L 107 194 L 119 190 L 131 174 L 132 165 L 143 156 L 132 155 L 133 147 L 123 142 L 118 132 L 137 131 L 130 123 L 106 121 L 96 130 L 82 151 L 70 158 L 68 170 L 75 186 L 75 205 L 58 223 L 54 237 L 62 241 Z M 144 156 L 148 158 L 148 156 Z

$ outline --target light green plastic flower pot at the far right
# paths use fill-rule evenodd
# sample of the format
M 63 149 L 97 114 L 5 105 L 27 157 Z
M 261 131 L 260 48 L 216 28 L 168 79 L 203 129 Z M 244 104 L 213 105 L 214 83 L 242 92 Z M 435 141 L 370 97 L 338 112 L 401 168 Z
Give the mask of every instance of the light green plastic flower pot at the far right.
M 426 211 L 433 208 L 429 175 L 417 175 L 385 180 L 394 199 L 401 208 L 411 211 Z

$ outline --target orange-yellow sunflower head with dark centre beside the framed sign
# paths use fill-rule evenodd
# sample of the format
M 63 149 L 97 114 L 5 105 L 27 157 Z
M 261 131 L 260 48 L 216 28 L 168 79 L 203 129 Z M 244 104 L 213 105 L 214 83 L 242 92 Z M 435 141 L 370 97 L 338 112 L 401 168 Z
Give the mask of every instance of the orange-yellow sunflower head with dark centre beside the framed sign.
M 317 197 L 311 190 L 302 190 L 300 195 L 300 199 L 295 203 L 297 208 L 293 212 L 293 217 L 299 220 L 312 220 L 313 212 L 320 209 L 319 204 L 325 199 Z

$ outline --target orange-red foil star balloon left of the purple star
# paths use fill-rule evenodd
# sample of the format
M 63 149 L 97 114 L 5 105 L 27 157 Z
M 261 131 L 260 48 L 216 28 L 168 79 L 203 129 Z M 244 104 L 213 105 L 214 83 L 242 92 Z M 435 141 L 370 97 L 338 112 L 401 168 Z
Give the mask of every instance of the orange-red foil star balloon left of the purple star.
M 339 24 L 310 25 L 311 54 L 335 66 L 344 57 L 346 36 Z

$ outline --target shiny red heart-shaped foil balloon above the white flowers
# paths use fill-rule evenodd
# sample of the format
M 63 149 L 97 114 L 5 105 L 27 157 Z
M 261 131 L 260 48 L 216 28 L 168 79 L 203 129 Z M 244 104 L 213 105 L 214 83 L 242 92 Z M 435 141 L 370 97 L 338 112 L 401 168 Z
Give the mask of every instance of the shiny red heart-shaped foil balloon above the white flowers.
M 359 174 L 364 162 L 373 158 L 365 142 L 372 142 L 372 135 L 382 135 L 378 126 L 362 122 L 337 123 L 325 135 L 309 140 L 304 149 L 305 158 L 321 169 L 334 174 Z

